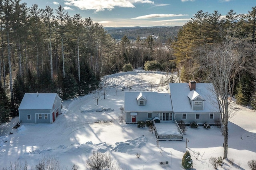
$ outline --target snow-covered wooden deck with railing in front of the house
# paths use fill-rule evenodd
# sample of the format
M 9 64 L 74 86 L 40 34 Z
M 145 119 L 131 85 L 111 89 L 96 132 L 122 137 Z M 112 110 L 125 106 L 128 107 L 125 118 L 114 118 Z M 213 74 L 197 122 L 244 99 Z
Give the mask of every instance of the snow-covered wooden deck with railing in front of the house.
M 154 123 L 157 140 L 183 140 L 183 133 L 178 126 L 178 123 L 172 121 L 162 121 Z

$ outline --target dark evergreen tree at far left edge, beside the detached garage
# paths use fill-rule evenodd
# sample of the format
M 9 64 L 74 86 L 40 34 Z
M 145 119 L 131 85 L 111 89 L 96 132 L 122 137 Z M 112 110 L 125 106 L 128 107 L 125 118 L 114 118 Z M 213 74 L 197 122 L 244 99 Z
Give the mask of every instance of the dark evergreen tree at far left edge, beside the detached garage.
M 9 117 L 10 103 L 0 81 L 0 122 L 6 122 Z

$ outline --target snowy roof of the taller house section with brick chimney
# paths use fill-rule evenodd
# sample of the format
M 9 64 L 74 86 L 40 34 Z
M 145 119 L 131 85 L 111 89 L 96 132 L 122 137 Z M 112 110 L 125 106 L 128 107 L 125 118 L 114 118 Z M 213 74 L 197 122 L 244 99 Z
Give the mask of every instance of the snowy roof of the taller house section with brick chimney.
M 169 83 L 169 88 L 174 113 L 218 112 L 212 83 L 196 83 L 196 91 L 190 91 L 188 83 Z M 205 100 L 204 110 L 192 110 L 189 98 L 194 99 L 198 95 Z

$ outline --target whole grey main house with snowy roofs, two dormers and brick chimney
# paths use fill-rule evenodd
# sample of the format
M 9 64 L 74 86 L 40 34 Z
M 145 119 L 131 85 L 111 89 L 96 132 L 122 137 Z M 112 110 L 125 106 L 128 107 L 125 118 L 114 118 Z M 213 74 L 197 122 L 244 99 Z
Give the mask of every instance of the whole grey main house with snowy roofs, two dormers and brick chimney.
M 212 83 L 169 83 L 168 93 L 125 92 L 126 123 L 159 117 L 160 121 L 214 124 L 220 119 Z

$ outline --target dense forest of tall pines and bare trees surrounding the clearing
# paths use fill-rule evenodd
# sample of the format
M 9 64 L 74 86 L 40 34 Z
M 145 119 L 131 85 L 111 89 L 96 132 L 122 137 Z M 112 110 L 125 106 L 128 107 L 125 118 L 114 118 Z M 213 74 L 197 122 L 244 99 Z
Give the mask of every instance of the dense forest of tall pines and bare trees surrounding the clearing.
M 117 40 L 115 29 L 70 16 L 61 5 L 40 9 L 20 1 L 0 0 L 0 122 L 18 115 L 24 93 L 71 99 L 100 89 L 104 75 L 138 67 L 176 71 L 181 82 L 212 81 L 210 56 L 226 47 L 224 42 L 244 61 L 230 64 L 229 87 L 238 103 L 256 107 L 256 7 L 248 14 L 230 10 L 224 18 L 201 10 L 182 27 L 143 28 L 135 35 L 126 30 Z M 142 38 L 147 29 L 152 35 Z

